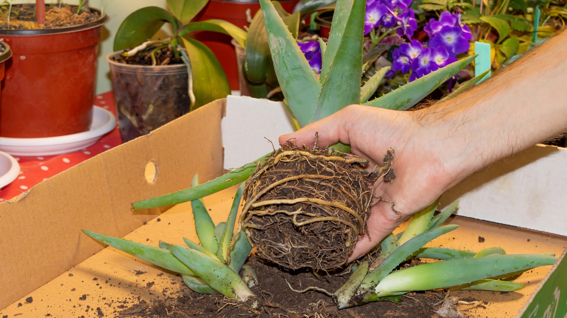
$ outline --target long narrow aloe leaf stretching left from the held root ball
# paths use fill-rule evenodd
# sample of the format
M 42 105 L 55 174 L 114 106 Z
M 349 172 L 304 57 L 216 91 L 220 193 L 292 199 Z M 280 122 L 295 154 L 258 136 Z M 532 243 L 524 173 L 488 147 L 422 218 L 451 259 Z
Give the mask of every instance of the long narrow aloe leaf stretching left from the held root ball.
M 256 170 L 257 162 L 264 162 L 265 158 L 271 156 L 272 152 L 257 158 L 254 162 L 232 170 L 211 181 L 199 184 L 185 190 L 172 192 L 170 194 L 151 197 L 132 204 L 134 210 L 164 207 L 166 205 L 178 204 L 199 199 L 200 197 L 214 194 L 215 192 L 230 188 L 235 184 L 246 181 Z

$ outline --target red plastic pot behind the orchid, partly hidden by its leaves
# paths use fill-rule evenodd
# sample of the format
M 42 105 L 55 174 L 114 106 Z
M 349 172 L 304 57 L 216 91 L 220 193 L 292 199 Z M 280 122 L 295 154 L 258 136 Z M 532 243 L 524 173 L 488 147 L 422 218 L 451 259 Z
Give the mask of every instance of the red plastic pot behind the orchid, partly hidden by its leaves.
M 287 12 L 293 11 L 298 0 L 280 0 L 282 7 Z M 209 3 L 197 15 L 196 20 L 221 19 L 228 21 L 239 28 L 247 27 L 250 24 L 246 18 L 246 10 L 250 9 L 250 15 L 256 14 L 260 10 L 258 0 L 240 0 L 240 1 L 221 1 L 210 0 Z M 197 32 L 194 38 L 203 42 L 209 47 L 221 62 L 223 70 L 225 70 L 227 78 L 229 78 L 230 89 L 238 89 L 238 66 L 236 66 L 236 53 L 234 46 L 230 43 L 230 36 L 218 32 Z

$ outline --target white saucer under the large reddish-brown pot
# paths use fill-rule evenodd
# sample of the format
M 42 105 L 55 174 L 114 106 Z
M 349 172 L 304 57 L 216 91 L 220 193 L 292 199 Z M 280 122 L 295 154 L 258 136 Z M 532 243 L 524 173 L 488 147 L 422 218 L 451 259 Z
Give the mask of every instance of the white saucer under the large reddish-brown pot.
M 110 111 L 94 106 L 91 129 L 78 134 L 44 138 L 0 137 L 0 151 L 14 156 L 51 156 L 78 151 L 93 145 L 101 136 L 116 127 Z

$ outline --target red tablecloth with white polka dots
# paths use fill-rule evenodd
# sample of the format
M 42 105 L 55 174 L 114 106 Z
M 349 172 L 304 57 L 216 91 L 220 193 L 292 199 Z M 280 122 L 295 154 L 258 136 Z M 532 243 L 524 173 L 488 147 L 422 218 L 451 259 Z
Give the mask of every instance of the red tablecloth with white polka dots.
M 95 105 L 112 111 L 116 116 L 114 95 L 111 92 L 103 93 L 95 97 Z M 44 157 L 22 157 L 14 156 L 20 164 L 20 175 L 13 182 L 0 190 L 0 201 L 9 200 L 12 197 L 29 190 L 37 183 L 69 169 L 88 158 L 107 151 L 122 143 L 118 125 L 114 130 L 102 136 L 96 144 L 81 149 L 80 151 L 57 154 L 56 156 Z

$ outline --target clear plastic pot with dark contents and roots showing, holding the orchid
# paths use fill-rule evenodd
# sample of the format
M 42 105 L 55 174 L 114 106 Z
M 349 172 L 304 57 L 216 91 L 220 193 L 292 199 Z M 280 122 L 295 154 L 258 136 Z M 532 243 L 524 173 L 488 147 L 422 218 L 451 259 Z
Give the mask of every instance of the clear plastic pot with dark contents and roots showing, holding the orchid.
M 122 141 L 146 135 L 187 114 L 191 106 L 185 64 L 147 66 L 113 61 L 122 51 L 106 56 Z

